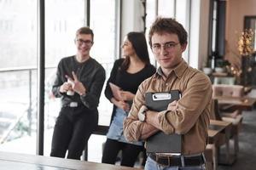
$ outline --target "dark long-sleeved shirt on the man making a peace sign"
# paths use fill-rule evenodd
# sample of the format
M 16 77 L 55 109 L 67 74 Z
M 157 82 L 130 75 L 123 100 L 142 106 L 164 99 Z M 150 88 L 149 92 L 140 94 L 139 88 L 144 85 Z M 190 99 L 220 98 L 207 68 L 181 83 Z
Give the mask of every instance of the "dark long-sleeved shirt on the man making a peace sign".
M 73 96 L 69 96 L 66 93 L 60 92 L 61 85 L 67 82 L 65 76 L 73 77 L 72 71 L 75 72 L 79 81 L 86 88 L 86 95 L 80 96 L 75 93 Z M 85 105 L 91 111 L 97 111 L 105 79 L 105 70 L 96 59 L 90 58 L 83 63 L 79 63 L 75 56 L 70 56 L 61 59 L 52 92 L 55 97 L 61 97 L 62 106 L 69 105 L 71 102 L 77 102 L 79 105 Z

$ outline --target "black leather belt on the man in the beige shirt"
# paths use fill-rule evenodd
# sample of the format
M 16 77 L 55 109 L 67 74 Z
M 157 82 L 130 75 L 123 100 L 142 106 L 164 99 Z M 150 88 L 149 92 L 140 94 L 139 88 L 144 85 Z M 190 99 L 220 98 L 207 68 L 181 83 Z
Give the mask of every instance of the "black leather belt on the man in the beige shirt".
M 166 167 L 200 166 L 205 163 L 204 157 L 199 156 L 157 156 L 153 153 L 149 157 L 158 164 Z M 184 160 L 184 163 L 182 163 Z

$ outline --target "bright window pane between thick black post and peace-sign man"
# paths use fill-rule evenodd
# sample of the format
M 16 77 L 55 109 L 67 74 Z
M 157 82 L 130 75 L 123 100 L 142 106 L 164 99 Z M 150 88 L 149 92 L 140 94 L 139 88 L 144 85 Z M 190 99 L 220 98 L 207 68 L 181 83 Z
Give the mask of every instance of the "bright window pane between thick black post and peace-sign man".
M 45 0 L 45 97 L 44 156 L 49 156 L 55 119 L 61 109 L 60 98 L 51 94 L 56 66 L 63 57 L 76 54 L 76 31 L 85 26 L 84 0 Z

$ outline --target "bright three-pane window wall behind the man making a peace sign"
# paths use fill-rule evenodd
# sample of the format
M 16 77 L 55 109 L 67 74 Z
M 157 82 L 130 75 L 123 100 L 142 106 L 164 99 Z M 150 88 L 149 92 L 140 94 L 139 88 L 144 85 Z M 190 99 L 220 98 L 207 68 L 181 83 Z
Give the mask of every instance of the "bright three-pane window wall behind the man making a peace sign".
M 49 156 L 60 111 L 60 99 L 51 94 L 56 66 L 61 58 L 76 53 L 75 32 L 86 26 L 90 16 L 95 33 L 91 57 L 103 65 L 109 77 L 118 58 L 116 2 L 90 1 L 89 13 L 86 0 L 45 0 L 44 156 Z M 38 0 L 0 1 L 0 10 L 0 150 L 36 154 Z M 99 123 L 108 125 L 111 112 L 112 105 L 102 93 Z M 90 143 L 95 145 L 97 139 L 92 140 Z M 89 160 L 95 158 L 89 154 Z

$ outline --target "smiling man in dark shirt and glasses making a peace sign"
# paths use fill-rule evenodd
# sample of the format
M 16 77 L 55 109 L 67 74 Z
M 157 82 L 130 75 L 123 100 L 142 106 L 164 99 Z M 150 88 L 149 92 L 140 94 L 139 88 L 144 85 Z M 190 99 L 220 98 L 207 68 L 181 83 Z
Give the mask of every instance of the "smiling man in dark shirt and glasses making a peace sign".
M 61 98 L 50 156 L 80 159 L 84 145 L 98 123 L 97 106 L 105 81 L 105 70 L 90 57 L 93 31 L 76 32 L 77 54 L 61 59 L 52 92 Z

